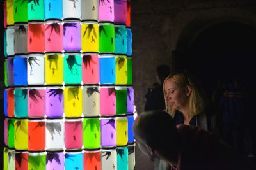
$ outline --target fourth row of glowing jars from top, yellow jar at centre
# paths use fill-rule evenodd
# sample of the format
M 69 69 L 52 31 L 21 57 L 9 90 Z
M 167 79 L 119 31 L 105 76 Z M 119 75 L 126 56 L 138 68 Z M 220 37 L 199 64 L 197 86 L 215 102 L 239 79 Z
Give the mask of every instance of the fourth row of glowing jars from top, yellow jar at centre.
M 132 87 L 22 87 L 4 91 L 6 117 L 95 117 L 134 111 Z M 64 115 L 65 114 L 65 115 Z

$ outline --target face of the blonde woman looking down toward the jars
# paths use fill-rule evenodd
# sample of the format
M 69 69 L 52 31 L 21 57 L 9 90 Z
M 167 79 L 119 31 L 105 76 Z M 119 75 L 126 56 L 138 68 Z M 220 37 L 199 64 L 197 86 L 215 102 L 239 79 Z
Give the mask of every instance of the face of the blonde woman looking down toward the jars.
M 186 94 L 186 89 L 179 87 L 172 78 L 164 83 L 165 100 L 169 106 L 175 110 L 182 110 L 188 106 L 189 96 Z

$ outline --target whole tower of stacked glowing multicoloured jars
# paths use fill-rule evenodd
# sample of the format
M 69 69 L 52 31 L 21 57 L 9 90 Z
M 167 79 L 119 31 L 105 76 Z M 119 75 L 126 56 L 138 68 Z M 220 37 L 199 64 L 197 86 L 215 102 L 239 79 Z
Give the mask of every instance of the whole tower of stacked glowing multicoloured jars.
M 4 170 L 134 169 L 129 0 L 4 2 Z

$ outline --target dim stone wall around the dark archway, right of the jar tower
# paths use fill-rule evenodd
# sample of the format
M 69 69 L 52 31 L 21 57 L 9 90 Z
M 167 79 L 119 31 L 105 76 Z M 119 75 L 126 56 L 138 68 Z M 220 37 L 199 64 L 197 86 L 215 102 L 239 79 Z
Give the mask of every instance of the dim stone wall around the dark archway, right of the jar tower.
M 134 100 L 141 113 L 156 67 L 175 70 L 175 53 L 183 52 L 201 31 L 223 21 L 256 28 L 256 1 L 131 0 Z M 221 41 L 221 40 L 220 40 Z M 177 56 L 176 56 L 177 57 Z

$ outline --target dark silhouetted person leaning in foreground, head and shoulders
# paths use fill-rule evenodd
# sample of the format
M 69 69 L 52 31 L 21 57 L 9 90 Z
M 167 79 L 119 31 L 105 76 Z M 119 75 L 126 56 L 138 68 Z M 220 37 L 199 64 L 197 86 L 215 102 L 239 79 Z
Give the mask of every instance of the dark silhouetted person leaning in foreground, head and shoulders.
M 133 131 L 145 154 L 165 160 L 173 169 L 256 169 L 211 132 L 181 124 L 176 127 L 164 111 L 142 113 Z

